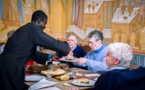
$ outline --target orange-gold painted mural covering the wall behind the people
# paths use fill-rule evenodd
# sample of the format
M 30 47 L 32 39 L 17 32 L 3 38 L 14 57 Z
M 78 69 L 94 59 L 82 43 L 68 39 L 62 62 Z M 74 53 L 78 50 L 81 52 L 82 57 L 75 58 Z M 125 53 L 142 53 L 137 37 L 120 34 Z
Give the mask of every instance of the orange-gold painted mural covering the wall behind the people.
M 71 2 L 72 4 L 74 0 L 52 0 L 51 3 L 49 1 L 51 0 L 0 0 L 0 7 L 2 7 L 0 8 L 0 39 L 6 38 L 6 33 L 9 30 L 17 29 L 21 25 L 30 22 L 32 13 L 37 9 L 43 10 L 49 16 L 50 6 L 53 12 L 50 15 L 51 24 L 50 21 L 48 21 L 45 31 L 47 34 L 52 36 L 54 36 L 55 32 L 57 32 L 55 34 L 59 33 L 57 36 L 61 36 L 60 33 L 64 33 L 61 31 L 62 28 L 63 30 L 65 29 L 63 25 L 70 25 L 66 23 L 71 22 L 65 20 L 68 20 L 67 18 L 72 16 L 71 20 L 73 22 L 74 11 L 72 8 L 78 7 L 78 5 L 72 5 L 67 9 L 60 9 L 66 7 L 56 3 L 66 1 L 65 3 L 68 4 L 68 2 Z M 89 33 L 91 30 L 99 29 L 104 33 L 111 33 L 108 35 L 110 37 L 107 37 L 111 42 L 127 42 L 133 49 L 145 50 L 145 0 L 82 1 L 83 2 L 81 3 L 84 6 L 80 5 L 80 7 L 83 8 L 81 8 L 79 11 L 82 11 L 83 9 L 84 11 L 83 13 L 78 12 L 80 13 L 78 15 L 81 17 L 79 20 L 79 25 L 77 24 L 78 28 L 77 30 L 70 30 L 73 33 L 77 31 L 80 32 L 81 34 L 78 34 L 78 32 L 77 34 L 80 35 L 82 41 L 86 39 L 87 33 Z M 7 4 L 9 5 L 6 6 Z M 72 13 L 68 13 L 70 11 Z M 59 18 L 58 14 L 60 14 Z M 62 17 L 63 19 L 60 19 Z M 79 18 L 79 16 L 77 18 Z

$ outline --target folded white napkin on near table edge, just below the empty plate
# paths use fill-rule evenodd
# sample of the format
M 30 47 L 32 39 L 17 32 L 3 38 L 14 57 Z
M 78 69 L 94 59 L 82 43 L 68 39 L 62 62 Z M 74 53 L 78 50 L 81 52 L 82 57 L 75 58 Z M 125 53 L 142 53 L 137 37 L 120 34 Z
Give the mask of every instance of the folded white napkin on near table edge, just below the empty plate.
M 34 85 L 30 86 L 28 90 L 36 90 L 39 88 L 55 85 L 57 83 L 58 82 L 48 81 L 46 80 L 46 78 L 44 78 L 40 80 L 39 82 L 35 83 Z

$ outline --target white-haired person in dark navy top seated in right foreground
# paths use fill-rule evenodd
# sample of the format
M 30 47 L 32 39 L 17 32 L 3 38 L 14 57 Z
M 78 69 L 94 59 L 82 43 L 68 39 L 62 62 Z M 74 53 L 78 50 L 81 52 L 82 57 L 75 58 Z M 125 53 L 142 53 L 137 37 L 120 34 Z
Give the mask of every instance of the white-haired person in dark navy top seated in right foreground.
M 93 90 L 145 90 L 145 68 L 128 69 L 133 57 L 130 46 L 116 42 L 108 50 L 106 64 L 111 70 L 98 78 Z

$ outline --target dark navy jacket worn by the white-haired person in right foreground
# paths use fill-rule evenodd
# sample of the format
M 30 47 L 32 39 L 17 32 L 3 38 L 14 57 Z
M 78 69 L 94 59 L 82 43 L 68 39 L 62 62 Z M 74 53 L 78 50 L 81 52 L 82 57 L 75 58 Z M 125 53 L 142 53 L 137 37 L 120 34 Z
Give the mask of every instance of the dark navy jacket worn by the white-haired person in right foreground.
M 109 71 L 98 78 L 93 90 L 145 90 L 145 68 Z

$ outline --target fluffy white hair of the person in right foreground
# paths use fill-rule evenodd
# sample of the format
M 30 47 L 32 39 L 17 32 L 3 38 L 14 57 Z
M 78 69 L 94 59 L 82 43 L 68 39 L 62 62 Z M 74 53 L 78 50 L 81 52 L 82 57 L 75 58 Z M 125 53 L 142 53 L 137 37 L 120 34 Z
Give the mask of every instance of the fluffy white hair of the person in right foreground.
M 122 42 L 115 42 L 108 45 L 108 50 L 114 59 L 120 60 L 119 66 L 128 68 L 133 58 L 131 47 Z

